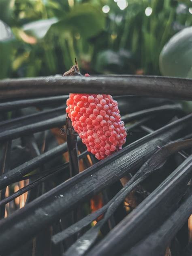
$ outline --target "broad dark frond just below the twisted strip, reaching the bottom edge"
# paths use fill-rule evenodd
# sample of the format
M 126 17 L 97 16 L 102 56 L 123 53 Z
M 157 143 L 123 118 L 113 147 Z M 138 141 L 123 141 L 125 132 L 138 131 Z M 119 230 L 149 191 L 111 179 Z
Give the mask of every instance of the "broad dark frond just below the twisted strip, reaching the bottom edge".
M 143 236 L 155 230 L 177 207 L 187 190 L 191 174 L 192 155 L 87 255 L 119 255 L 124 249 L 132 247 Z M 118 246 L 119 243 L 121 247 Z

